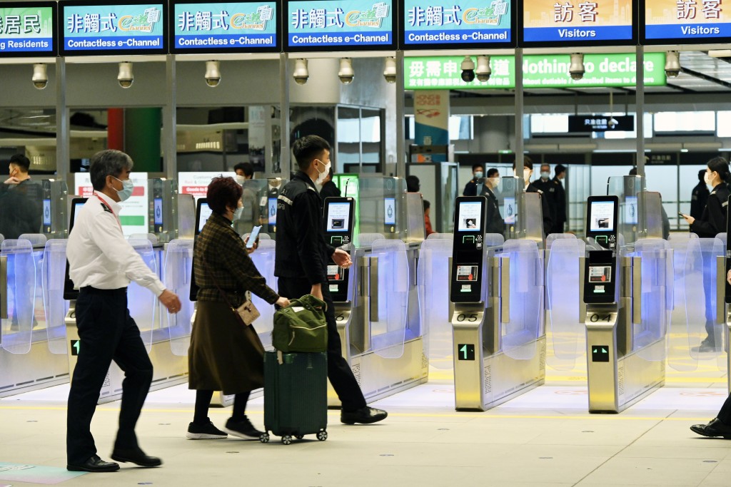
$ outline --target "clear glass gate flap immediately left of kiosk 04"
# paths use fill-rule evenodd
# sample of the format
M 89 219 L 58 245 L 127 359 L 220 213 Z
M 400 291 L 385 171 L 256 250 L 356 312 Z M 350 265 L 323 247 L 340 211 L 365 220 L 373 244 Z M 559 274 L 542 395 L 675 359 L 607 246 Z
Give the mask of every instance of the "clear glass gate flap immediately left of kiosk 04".
M 586 353 L 580 277 L 586 244 L 572 234 L 551 234 L 546 245 L 546 364 L 556 370 L 572 370 L 577 358 Z

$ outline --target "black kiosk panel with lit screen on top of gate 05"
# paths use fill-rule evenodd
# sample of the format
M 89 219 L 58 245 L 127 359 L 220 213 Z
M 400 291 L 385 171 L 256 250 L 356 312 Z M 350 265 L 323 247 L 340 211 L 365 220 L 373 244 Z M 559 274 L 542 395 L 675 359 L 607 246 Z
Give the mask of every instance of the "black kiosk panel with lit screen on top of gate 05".
M 455 238 L 452 244 L 452 291 L 455 303 L 482 300 L 482 259 L 485 253 L 485 196 L 459 196 L 455 204 Z

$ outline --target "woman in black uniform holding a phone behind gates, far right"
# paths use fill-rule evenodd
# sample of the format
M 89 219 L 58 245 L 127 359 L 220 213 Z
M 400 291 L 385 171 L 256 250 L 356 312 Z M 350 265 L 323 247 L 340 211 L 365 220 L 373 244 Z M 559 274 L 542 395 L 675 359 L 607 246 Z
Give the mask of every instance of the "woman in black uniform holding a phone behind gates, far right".
M 700 238 L 713 238 L 716 235 L 726 231 L 729 204 L 729 186 L 731 181 L 731 173 L 729 172 L 729 163 L 722 157 L 715 157 L 708 161 L 708 167 L 705 169 L 705 183 L 710 185 L 713 190 L 708 195 L 708 202 L 700 218 L 693 218 L 690 215 L 683 215 L 683 218 L 690 224 L 690 231 L 697 234 Z M 715 260 L 703 259 L 705 267 L 715 266 Z M 722 336 L 721 330 L 716 330 L 715 321 L 713 320 L 714 302 L 711 298 L 712 283 L 707 280 L 703 281 L 705 289 L 705 331 L 708 336 L 700 343 L 699 347 L 694 347 L 694 351 L 712 352 L 720 350 L 720 343 L 716 343 L 716 337 Z

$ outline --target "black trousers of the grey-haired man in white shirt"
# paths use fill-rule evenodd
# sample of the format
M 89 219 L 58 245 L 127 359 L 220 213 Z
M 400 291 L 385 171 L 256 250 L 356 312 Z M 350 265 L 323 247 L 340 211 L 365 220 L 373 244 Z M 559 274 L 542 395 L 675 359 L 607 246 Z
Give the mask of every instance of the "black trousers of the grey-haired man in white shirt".
M 82 288 L 76 302 L 80 347 L 67 413 L 69 464 L 83 464 L 96 454 L 90 430 L 91 417 L 112 361 L 124 370 L 119 430 L 114 448 L 137 448 L 135 424 L 152 382 L 152 362 L 140 338 L 140 329 L 127 310 L 126 291 L 126 288 Z

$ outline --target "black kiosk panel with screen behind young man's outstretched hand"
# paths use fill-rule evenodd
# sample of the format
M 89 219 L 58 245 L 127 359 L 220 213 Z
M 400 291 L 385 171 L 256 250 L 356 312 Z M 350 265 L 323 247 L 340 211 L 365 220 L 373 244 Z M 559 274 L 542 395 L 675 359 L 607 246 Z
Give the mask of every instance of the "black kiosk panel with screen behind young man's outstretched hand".
M 355 200 L 325 198 L 325 242 L 333 247 L 348 245 L 353 237 L 353 210 Z M 348 300 L 348 269 L 341 269 L 334 261 L 327 262 L 327 288 L 333 302 Z

